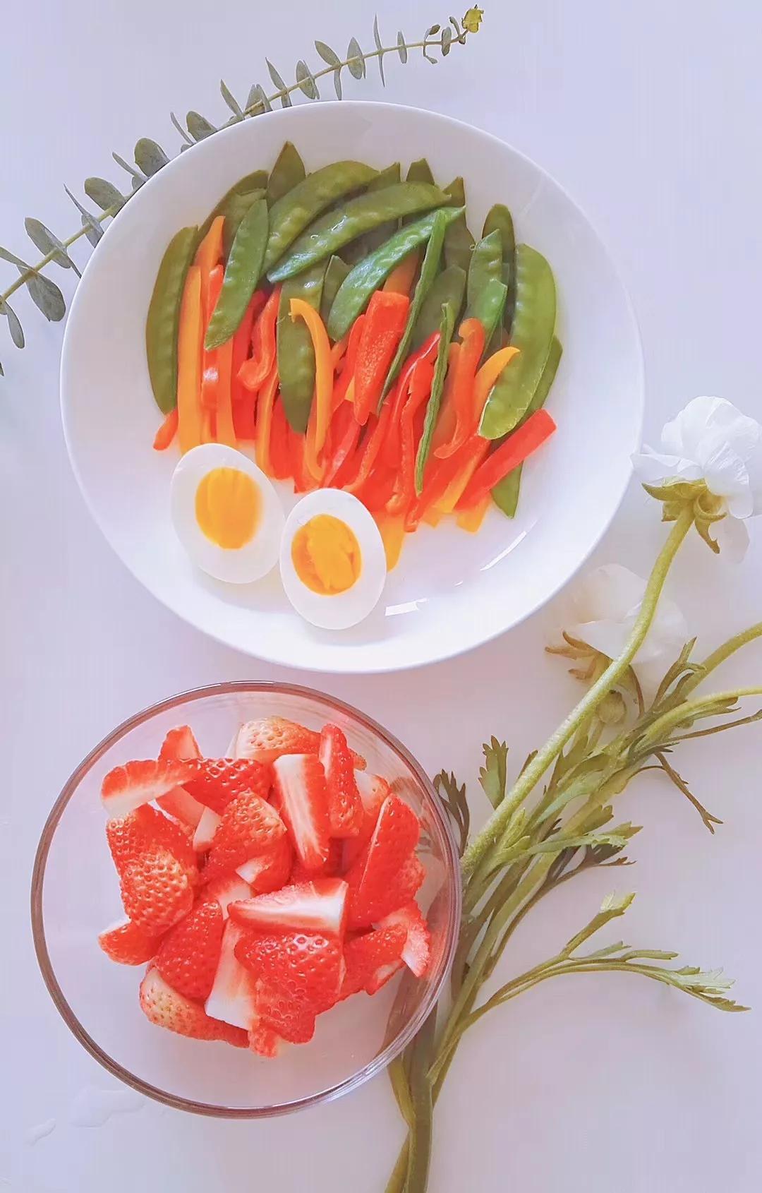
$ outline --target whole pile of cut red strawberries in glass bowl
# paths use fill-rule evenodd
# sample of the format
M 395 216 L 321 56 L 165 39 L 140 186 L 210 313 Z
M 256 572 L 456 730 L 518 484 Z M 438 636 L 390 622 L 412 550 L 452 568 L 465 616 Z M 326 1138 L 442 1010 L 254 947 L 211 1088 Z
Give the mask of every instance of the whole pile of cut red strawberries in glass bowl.
M 111 769 L 101 799 L 126 919 L 99 945 L 148 963 L 156 1026 L 274 1057 L 339 1002 L 426 975 L 419 817 L 339 725 L 252 721 L 229 758 L 182 725 Z

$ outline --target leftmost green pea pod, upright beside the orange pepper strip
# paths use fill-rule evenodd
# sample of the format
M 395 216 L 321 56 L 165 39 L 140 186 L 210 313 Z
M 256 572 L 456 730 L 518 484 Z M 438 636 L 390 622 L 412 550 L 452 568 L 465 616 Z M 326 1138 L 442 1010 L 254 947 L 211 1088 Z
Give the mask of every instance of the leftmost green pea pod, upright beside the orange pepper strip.
M 156 406 L 168 414 L 178 404 L 178 327 L 185 276 L 196 253 L 197 228 L 181 228 L 159 266 L 145 317 L 148 376 Z

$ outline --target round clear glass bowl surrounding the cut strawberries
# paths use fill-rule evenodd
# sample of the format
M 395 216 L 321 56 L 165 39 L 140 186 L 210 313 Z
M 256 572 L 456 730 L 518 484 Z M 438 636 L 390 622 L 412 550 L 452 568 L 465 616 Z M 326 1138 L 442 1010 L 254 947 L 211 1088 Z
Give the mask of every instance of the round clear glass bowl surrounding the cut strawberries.
M 190 724 L 202 750 L 224 755 L 242 721 L 284 716 L 320 729 L 332 721 L 419 814 L 426 882 L 419 900 L 433 934 L 432 964 L 416 981 L 398 976 L 377 995 L 355 995 L 318 1016 L 310 1044 L 266 1059 L 202 1043 L 150 1024 L 138 1005 L 142 968 L 116 965 L 98 933 L 122 913 L 104 832 L 100 784 L 114 766 L 155 758 L 167 730 Z M 37 959 L 66 1024 L 116 1077 L 176 1109 L 262 1118 L 314 1106 L 380 1073 L 432 1009 L 454 952 L 460 920 L 458 853 L 446 815 L 415 759 L 368 717 L 321 692 L 290 684 L 237 682 L 197 688 L 138 712 L 85 759 L 55 803 L 32 876 Z

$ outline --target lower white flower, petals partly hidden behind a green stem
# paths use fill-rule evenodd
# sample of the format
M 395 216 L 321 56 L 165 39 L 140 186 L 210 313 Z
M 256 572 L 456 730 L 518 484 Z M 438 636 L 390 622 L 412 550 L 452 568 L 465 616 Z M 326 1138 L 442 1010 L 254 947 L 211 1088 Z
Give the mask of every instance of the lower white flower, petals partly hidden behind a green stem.
M 572 593 L 576 624 L 568 626 L 566 632 L 608 659 L 617 659 L 630 637 L 644 593 L 645 580 L 628 568 L 619 563 L 596 568 Z M 646 639 L 633 661 L 644 691 L 656 690 L 688 637 L 688 626 L 680 608 L 662 596 Z

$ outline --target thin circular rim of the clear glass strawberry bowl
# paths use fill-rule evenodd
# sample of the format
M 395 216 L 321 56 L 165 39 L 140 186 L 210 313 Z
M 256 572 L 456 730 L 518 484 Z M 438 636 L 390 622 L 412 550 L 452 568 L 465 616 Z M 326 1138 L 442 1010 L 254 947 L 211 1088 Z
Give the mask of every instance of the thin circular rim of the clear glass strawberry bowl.
M 392 750 L 397 756 L 410 768 L 415 778 L 417 779 L 421 791 L 423 795 L 423 801 L 428 805 L 428 811 L 432 814 L 433 818 L 436 821 L 442 840 L 445 843 L 445 865 L 451 877 L 452 882 L 452 897 L 450 900 L 450 914 L 446 925 L 446 944 L 440 963 L 440 972 L 434 982 L 430 983 L 427 995 L 421 1000 L 416 1013 L 408 1020 L 404 1027 L 397 1033 L 397 1036 L 386 1044 L 378 1056 L 373 1057 L 366 1065 L 358 1069 L 351 1076 L 329 1086 L 326 1089 L 321 1089 L 315 1094 L 309 1094 L 304 1098 L 293 1099 L 292 1101 L 275 1104 L 273 1106 L 260 1106 L 260 1107 L 223 1107 L 215 1105 L 212 1102 L 199 1102 L 193 1099 L 181 1098 L 178 1094 L 171 1094 L 165 1089 L 160 1089 L 157 1086 L 153 1086 L 147 1081 L 143 1081 L 136 1074 L 125 1069 L 122 1064 L 114 1061 L 109 1053 L 100 1047 L 99 1044 L 89 1036 L 85 1027 L 80 1024 L 78 1016 L 72 1010 L 63 990 L 58 984 L 55 970 L 50 959 L 50 953 L 48 952 L 48 942 L 45 939 L 45 927 L 43 919 L 43 886 L 45 879 L 45 866 L 48 861 L 48 855 L 50 853 L 50 847 L 55 836 L 55 830 L 72 799 L 75 791 L 78 790 L 80 783 L 88 773 L 88 771 L 104 756 L 104 754 L 122 737 L 124 737 L 130 730 L 136 729 L 138 725 L 145 724 L 148 721 L 153 719 L 161 712 L 167 712 L 172 709 L 181 707 L 185 705 L 193 704 L 196 700 L 205 699 L 206 697 L 215 696 L 229 696 L 231 693 L 250 693 L 250 692 L 273 692 L 279 696 L 295 696 L 305 697 L 308 699 L 315 699 L 322 704 L 328 705 L 330 709 L 346 713 L 349 718 L 359 721 L 365 729 L 370 730 Z M 35 953 L 37 957 L 37 964 L 48 988 L 48 993 L 52 999 L 52 1002 L 58 1010 L 58 1014 L 66 1022 L 69 1031 L 76 1037 L 82 1047 L 89 1052 L 89 1055 L 98 1061 L 109 1073 L 111 1073 L 119 1081 L 130 1086 L 137 1093 L 151 1098 L 157 1102 L 162 1102 L 166 1106 L 171 1106 L 173 1109 L 186 1111 L 192 1114 L 202 1114 L 209 1118 L 224 1118 L 224 1119 L 260 1119 L 260 1118 L 272 1118 L 278 1114 L 287 1114 L 293 1111 L 304 1109 L 310 1106 L 317 1106 L 322 1102 L 333 1101 L 336 1098 L 341 1098 L 343 1094 L 351 1093 L 353 1089 L 358 1089 L 371 1077 L 377 1076 L 397 1057 L 404 1051 L 407 1045 L 410 1043 L 413 1037 L 416 1034 L 419 1028 L 423 1025 L 428 1014 L 430 1013 L 434 1003 L 436 1002 L 450 968 L 453 962 L 456 947 L 458 944 L 458 927 L 460 923 L 461 913 L 461 886 L 459 882 L 460 873 L 460 859 L 458 855 L 458 848 L 456 846 L 454 836 L 452 833 L 452 827 L 450 824 L 448 817 L 444 810 L 442 803 L 436 795 L 432 780 L 428 778 L 421 765 L 410 754 L 410 752 L 402 744 L 402 742 L 395 737 L 388 729 L 380 725 L 372 717 L 366 713 L 360 712 L 353 705 L 345 700 L 340 700 L 334 696 L 329 696 L 327 692 L 321 692 L 317 688 L 306 687 L 299 684 L 285 684 L 277 680 L 229 680 L 222 684 L 209 684 L 202 687 L 188 688 L 185 692 L 179 692 L 175 696 L 167 697 L 163 700 L 159 700 L 155 704 L 142 709 L 140 712 L 134 713 L 123 721 L 116 729 L 106 736 L 82 759 L 79 766 L 72 772 L 63 787 L 58 795 L 56 802 L 54 803 L 45 824 L 43 827 L 42 834 L 39 836 L 39 842 L 35 853 L 35 864 L 32 867 L 32 882 L 31 882 L 31 920 L 32 920 L 32 939 L 35 945 Z

